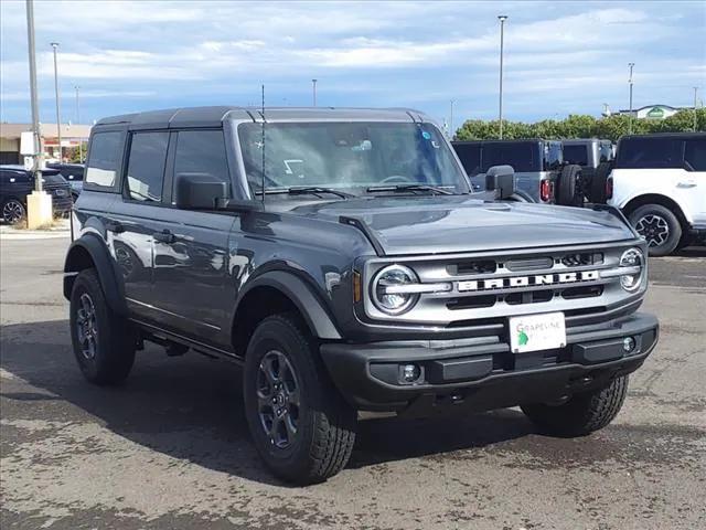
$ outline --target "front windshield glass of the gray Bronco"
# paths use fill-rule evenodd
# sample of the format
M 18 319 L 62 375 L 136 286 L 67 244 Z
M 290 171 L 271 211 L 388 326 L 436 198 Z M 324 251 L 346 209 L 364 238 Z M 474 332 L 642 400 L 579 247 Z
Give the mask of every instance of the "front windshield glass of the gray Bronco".
M 242 124 L 238 135 L 248 183 L 258 192 L 263 127 Z M 264 166 L 266 190 L 317 187 L 362 193 L 417 184 L 469 191 L 447 142 L 429 124 L 267 124 Z

